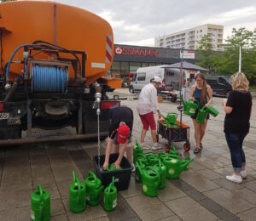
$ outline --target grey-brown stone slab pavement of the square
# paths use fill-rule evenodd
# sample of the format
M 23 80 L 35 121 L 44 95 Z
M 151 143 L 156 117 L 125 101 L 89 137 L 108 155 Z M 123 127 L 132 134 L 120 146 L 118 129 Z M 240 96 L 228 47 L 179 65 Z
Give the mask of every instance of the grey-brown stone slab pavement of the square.
M 142 194 L 141 184 L 134 176 L 128 190 L 119 191 L 118 206 L 104 212 L 102 205 L 86 207 L 74 214 L 68 208 L 68 188 L 72 171 L 85 178 L 94 169 L 92 156 L 97 153 L 96 142 L 59 142 L 0 149 L 0 220 L 30 220 L 30 195 L 42 184 L 51 194 L 50 220 L 256 220 L 256 111 L 251 120 L 250 133 L 244 142 L 248 177 L 242 184 L 227 181 L 230 174 L 230 152 L 224 139 L 224 111 L 221 98 L 214 97 L 213 105 L 220 111 L 208 122 L 201 154 L 195 156 L 194 130 L 191 119 L 183 116 L 190 128 L 191 150 L 183 150 L 183 142 L 174 143 L 181 157 L 191 156 L 189 170 L 177 180 L 168 180 L 158 197 Z M 256 99 L 253 99 L 256 104 Z M 142 124 L 137 116 L 137 100 L 124 100 L 122 105 L 134 110 L 133 143 L 139 139 Z M 165 115 L 177 112 L 177 104 L 164 100 L 160 109 Z M 34 130 L 34 134 L 70 134 L 67 127 L 54 132 Z M 146 144 L 152 145 L 149 133 Z M 166 139 L 160 137 L 160 144 Z M 102 142 L 102 153 L 105 142 Z

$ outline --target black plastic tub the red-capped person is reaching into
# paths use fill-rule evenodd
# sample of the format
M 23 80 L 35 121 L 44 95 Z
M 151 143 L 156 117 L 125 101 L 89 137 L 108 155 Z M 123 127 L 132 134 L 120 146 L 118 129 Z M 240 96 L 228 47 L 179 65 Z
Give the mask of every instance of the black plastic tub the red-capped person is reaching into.
M 111 154 L 109 156 L 109 165 L 117 160 L 119 154 Z M 114 185 L 117 190 L 127 190 L 130 184 L 131 179 L 131 163 L 123 156 L 123 159 L 120 163 L 122 167 L 121 170 L 116 171 L 106 171 L 102 170 L 102 166 L 105 161 L 105 155 L 100 156 L 100 167 L 98 164 L 98 156 L 93 157 L 94 165 L 96 167 L 96 176 L 102 180 L 102 185 L 107 187 L 108 184 L 112 182 L 112 177 L 114 176 Z

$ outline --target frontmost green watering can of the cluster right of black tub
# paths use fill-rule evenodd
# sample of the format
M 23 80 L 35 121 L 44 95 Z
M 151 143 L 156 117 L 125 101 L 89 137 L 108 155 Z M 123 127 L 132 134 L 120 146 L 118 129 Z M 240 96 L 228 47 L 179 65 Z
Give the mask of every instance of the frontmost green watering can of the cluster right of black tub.
M 154 167 L 139 167 L 142 176 L 142 190 L 144 195 L 156 197 L 158 195 L 158 188 L 160 184 L 160 174 Z

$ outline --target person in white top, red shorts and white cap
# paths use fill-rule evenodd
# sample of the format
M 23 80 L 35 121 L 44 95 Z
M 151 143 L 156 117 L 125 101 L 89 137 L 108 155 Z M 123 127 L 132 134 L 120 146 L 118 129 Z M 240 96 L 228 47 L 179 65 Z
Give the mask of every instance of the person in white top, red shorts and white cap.
M 162 146 L 157 144 L 156 139 L 156 125 L 154 121 L 154 113 L 158 113 L 158 117 L 161 117 L 159 106 L 157 104 L 157 89 L 162 84 L 162 79 L 158 76 L 152 78 L 151 82 L 143 87 L 138 99 L 137 112 L 143 122 L 143 131 L 141 134 L 141 144 L 144 144 L 145 135 L 148 132 L 148 128 L 151 128 L 151 135 L 153 139 L 152 150 L 159 150 Z M 143 146 L 144 149 L 148 149 Z

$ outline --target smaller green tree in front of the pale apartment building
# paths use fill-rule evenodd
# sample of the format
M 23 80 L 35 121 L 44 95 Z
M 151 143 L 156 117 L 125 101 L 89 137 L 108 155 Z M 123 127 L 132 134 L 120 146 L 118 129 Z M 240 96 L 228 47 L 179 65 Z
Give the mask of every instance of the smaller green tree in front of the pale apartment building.
M 211 72 L 215 71 L 216 63 L 218 63 L 218 54 L 213 51 L 211 35 L 204 35 L 198 43 L 199 46 L 196 48 L 196 53 L 199 56 L 196 58 L 198 62 L 195 65 L 200 65 Z

